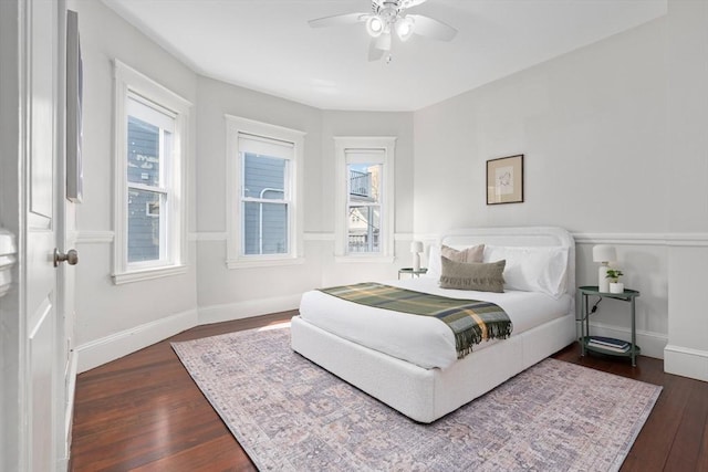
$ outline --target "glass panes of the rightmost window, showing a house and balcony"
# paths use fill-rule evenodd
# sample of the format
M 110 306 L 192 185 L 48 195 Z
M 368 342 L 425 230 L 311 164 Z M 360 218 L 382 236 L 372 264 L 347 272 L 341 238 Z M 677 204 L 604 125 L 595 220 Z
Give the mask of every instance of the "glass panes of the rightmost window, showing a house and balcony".
M 347 164 L 347 252 L 381 251 L 381 164 Z

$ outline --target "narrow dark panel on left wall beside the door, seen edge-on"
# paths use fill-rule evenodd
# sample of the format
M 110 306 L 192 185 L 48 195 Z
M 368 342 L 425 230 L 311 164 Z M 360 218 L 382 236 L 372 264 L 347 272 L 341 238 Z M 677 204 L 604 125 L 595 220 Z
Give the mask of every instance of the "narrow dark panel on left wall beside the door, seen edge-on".
M 83 66 L 79 41 L 79 14 L 66 11 L 66 198 L 83 199 L 82 143 Z

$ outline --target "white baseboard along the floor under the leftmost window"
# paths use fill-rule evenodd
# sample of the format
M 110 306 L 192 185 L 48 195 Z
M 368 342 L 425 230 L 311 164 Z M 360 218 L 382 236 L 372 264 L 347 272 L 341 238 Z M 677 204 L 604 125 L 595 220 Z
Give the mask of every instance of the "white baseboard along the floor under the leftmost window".
M 76 347 L 77 373 L 98 367 L 197 326 L 197 311 L 189 310 L 115 333 Z

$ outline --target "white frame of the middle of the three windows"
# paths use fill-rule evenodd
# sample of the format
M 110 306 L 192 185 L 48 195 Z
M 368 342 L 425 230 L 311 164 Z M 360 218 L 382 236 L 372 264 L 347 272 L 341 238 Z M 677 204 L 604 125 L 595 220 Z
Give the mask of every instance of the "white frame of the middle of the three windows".
M 227 176 L 227 261 L 229 269 L 262 268 L 301 264 L 303 254 L 303 149 L 305 133 L 298 129 L 261 123 L 240 116 L 225 115 L 226 119 L 226 176 Z M 292 145 L 289 158 L 290 195 L 288 199 L 288 252 L 282 254 L 243 254 L 241 224 L 241 181 L 243 166 L 239 149 L 239 135 L 263 138 Z

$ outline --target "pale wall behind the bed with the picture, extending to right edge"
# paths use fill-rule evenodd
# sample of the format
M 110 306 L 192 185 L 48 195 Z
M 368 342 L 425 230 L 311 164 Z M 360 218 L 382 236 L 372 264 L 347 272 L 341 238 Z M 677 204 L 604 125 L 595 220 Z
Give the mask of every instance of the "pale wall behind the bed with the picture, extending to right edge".
M 667 371 L 708 379 L 708 7 L 668 15 L 415 113 L 415 233 L 556 224 L 617 247 L 639 290 L 638 344 Z M 525 155 L 525 201 L 487 206 L 486 161 Z M 605 300 L 598 334 L 628 338 L 628 306 Z

